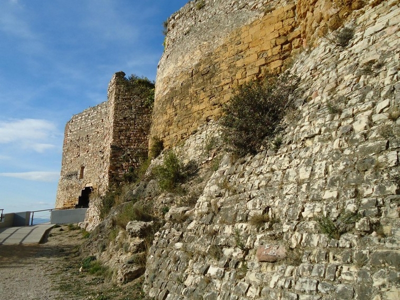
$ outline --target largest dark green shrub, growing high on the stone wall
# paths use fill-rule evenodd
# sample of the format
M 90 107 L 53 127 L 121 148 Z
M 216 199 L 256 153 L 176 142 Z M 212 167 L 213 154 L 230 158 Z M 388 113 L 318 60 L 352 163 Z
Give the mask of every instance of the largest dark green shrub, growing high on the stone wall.
M 254 154 L 280 131 L 279 123 L 294 108 L 297 77 L 267 73 L 263 80 L 239 87 L 222 107 L 223 139 L 235 154 Z

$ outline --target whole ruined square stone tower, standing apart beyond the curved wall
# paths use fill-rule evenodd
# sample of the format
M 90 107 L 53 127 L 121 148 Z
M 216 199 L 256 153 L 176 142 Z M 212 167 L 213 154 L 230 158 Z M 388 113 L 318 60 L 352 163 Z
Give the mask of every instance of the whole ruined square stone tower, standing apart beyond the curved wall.
M 103 195 L 147 152 L 150 110 L 124 76 L 113 75 L 106 102 L 67 122 L 56 207 L 77 204 L 86 186 Z

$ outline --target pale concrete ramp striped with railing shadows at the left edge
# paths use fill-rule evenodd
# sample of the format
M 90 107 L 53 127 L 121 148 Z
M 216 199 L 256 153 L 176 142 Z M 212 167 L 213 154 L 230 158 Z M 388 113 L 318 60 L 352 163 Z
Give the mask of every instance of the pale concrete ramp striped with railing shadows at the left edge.
M 54 224 L 0 228 L 0 245 L 39 243 Z

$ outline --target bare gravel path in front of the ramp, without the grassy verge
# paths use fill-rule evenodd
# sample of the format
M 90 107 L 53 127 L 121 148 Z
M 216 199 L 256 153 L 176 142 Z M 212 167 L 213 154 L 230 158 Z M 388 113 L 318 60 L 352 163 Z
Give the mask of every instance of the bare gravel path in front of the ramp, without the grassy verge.
M 3 299 L 57 299 L 52 271 L 80 242 L 77 230 L 53 228 L 45 243 L 0 245 L 0 295 Z M 75 251 L 76 252 L 76 251 Z M 65 298 L 67 299 L 67 298 Z

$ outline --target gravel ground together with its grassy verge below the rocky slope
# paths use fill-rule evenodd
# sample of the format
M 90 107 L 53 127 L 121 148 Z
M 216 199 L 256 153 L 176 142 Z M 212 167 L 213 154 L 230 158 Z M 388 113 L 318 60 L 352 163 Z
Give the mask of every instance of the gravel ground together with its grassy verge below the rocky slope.
M 113 285 L 100 274 L 80 272 L 82 231 L 52 228 L 42 244 L 0 245 L 0 297 L 8 300 L 145 299 L 141 279 Z

